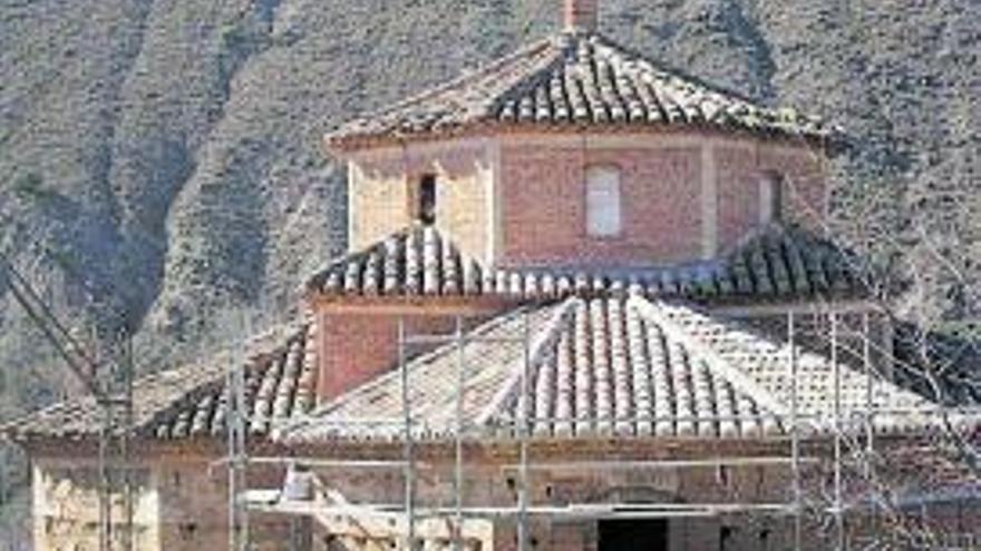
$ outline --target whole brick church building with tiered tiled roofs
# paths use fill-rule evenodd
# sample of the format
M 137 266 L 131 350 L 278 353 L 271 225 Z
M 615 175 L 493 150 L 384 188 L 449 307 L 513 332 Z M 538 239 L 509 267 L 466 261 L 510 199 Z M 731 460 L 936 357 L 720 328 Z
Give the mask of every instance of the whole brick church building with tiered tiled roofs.
M 557 33 L 324 137 L 349 250 L 250 342 L 243 411 L 227 356 L 136 382 L 135 549 L 229 547 L 240 414 L 255 550 L 817 550 L 829 518 L 895 521 L 824 461 L 939 411 L 824 229 L 841 131 L 554 1 Z M 6 432 L 37 549 L 97 549 L 94 400 Z

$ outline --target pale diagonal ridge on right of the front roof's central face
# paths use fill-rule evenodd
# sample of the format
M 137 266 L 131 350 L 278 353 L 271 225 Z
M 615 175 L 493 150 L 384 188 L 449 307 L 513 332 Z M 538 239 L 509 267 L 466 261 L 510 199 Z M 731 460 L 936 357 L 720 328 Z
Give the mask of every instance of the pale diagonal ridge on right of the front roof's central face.
M 637 308 L 642 316 L 658 324 L 669 338 L 683 344 L 690 353 L 700 356 L 706 365 L 720 376 L 727 378 L 738 391 L 751 397 L 763 407 L 777 416 L 787 414 L 787 407 L 780 403 L 766 388 L 757 384 L 749 376 L 744 374 L 738 367 L 732 366 L 726 358 L 718 354 L 715 350 L 703 344 L 700 340 L 692 337 L 673 319 L 664 315 L 659 305 L 638 295 L 632 295 L 628 299 L 628 304 Z

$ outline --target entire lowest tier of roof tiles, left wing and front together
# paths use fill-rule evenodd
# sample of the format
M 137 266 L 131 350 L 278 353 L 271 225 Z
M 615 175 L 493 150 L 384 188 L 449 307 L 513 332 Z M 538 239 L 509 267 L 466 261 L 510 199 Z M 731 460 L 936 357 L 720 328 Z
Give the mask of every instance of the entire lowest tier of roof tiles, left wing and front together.
M 527 326 L 525 326 L 527 324 Z M 317 409 L 314 327 L 278 338 L 245 366 L 247 430 L 288 442 L 401 436 L 400 383 L 383 374 Z M 527 333 L 526 333 L 527 332 Z M 527 342 L 530 401 L 523 403 Z M 483 337 L 493 340 L 482 341 Z M 523 307 L 468 333 L 464 420 L 492 437 L 513 435 L 527 406 L 537 437 L 760 437 L 781 434 L 791 385 L 785 343 L 684 304 L 625 297 L 570 297 Z M 416 436 L 446 436 L 456 412 L 457 348 L 439 348 L 409 365 Z M 225 430 L 227 357 L 140 378 L 134 388 L 137 434 L 159 440 L 213 437 Z M 843 417 L 858 412 L 867 378 L 839 368 Z M 828 430 L 834 368 L 816 353 L 798 361 L 799 413 L 813 432 Z M 933 404 L 886 380 L 873 380 L 876 430 L 933 426 Z M 885 412 L 921 409 L 923 415 Z M 952 414 L 969 429 L 971 419 Z M 974 423 L 971 425 L 970 423 Z M 100 427 L 91 397 L 56 404 L 9 424 L 13 440 L 82 439 Z

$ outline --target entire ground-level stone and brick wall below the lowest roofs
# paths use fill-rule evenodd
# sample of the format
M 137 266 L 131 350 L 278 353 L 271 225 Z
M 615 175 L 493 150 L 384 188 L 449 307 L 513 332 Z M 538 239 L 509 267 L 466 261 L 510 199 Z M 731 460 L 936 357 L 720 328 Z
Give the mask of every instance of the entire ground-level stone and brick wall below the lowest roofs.
M 206 444 L 208 442 L 205 442 Z M 198 443 L 200 444 L 200 443 Z M 211 452 L 191 442 L 166 444 L 156 450 L 143 443 L 145 460 L 136 465 L 135 549 L 137 551 L 198 551 L 227 549 L 227 472 L 212 466 L 220 450 L 210 442 Z M 530 471 L 530 506 L 561 508 L 569 504 L 610 504 L 623 506 L 673 503 L 779 504 L 789 499 L 790 475 L 787 465 L 715 465 L 669 468 L 630 466 L 625 463 L 584 464 L 595 443 L 553 443 L 551 455 L 534 456 Z M 205 446 L 207 447 L 207 446 Z M 701 459 L 726 456 L 722 447 L 706 442 Z M 562 450 L 565 450 L 564 452 Z M 668 450 L 684 450 L 681 442 L 664 445 L 651 441 L 619 441 L 608 445 L 610 461 L 672 459 Z M 304 453 L 334 457 L 338 447 Z M 375 451 L 371 451 L 375 450 Z M 499 449 L 498 451 L 503 450 Z M 644 452 L 648 450 L 648 452 Z M 660 450 L 660 451 L 657 451 Z M 763 450 L 763 447 L 759 447 Z M 396 459 L 398 446 L 367 446 L 354 456 Z M 734 453 L 736 453 L 734 451 Z M 666 455 L 668 454 L 668 455 Z M 35 465 L 35 535 L 38 551 L 94 551 L 98 549 L 98 498 L 96 462 L 90 452 L 76 457 L 32 454 Z M 453 451 L 448 446 L 417 447 L 417 511 L 443 508 L 451 511 L 454 500 Z M 596 456 L 594 459 L 602 459 Z M 673 459 L 681 459 L 673 457 Z M 553 468 L 543 469 L 552 461 Z M 561 462 L 564 464 L 555 464 Z M 464 505 L 511 508 L 517 503 L 518 469 L 516 456 L 504 450 L 487 455 L 479 446 L 465 446 Z M 825 465 L 826 468 L 826 465 Z M 827 472 L 809 471 L 805 465 L 805 491 L 816 496 L 827 483 Z M 400 469 L 330 468 L 315 471 L 323 484 L 354 504 L 391 504 L 404 500 Z M 810 474 L 807 474 L 810 473 Z M 252 469 L 251 489 L 274 490 L 282 481 L 282 470 Z M 808 482 L 809 481 L 809 482 Z M 816 483 L 820 488 L 807 485 Z M 115 515 L 122 519 L 122 504 L 115 500 Z M 601 548 L 601 514 L 593 518 L 557 518 L 531 514 L 531 549 L 555 551 L 605 551 Z M 416 535 L 420 549 L 450 549 L 454 524 L 448 512 L 441 518 L 420 520 Z M 804 523 L 805 551 L 829 549 L 833 532 L 820 524 L 826 515 L 809 514 Z M 975 502 L 930 503 L 911 506 L 903 522 L 907 528 L 943 537 L 945 533 L 977 531 L 979 508 Z M 849 535 L 895 532 L 895 519 L 877 520 L 851 512 L 846 518 Z M 668 551 L 766 551 L 790 549 L 793 524 L 787 516 L 773 514 L 720 514 L 716 516 L 674 516 L 667 520 Z M 321 514 L 300 516 L 250 515 L 250 542 L 258 551 L 365 551 L 402 549 L 405 519 L 396 516 Z M 895 532 L 899 533 L 899 532 Z M 468 551 L 516 550 L 516 523 L 508 518 L 473 518 L 463 527 L 464 549 Z M 118 540 L 117 540 L 118 541 Z M 295 545 L 291 547 L 291 542 Z

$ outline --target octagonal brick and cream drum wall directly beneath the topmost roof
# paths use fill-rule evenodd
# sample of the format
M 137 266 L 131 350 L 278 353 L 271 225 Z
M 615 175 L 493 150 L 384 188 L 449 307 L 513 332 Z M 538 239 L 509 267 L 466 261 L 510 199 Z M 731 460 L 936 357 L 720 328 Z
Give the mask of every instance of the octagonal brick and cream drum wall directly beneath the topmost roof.
M 715 169 L 702 166 L 708 156 Z M 434 173 L 437 227 L 468 255 L 504 266 L 667 265 L 726 254 L 759 227 L 765 171 L 784 176 L 785 219 L 818 227 L 826 203 L 818 152 L 697 134 L 448 139 L 352 163 L 352 248 L 410 224 L 409 183 Z M 594 165 L 621 169 L 623 234 L 613 238 L 586 235 L 584 179 Z M 703 220 L 712 181 L 716 219 Z

